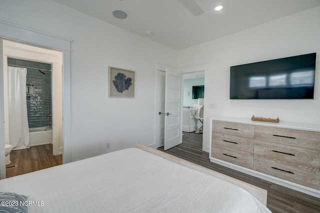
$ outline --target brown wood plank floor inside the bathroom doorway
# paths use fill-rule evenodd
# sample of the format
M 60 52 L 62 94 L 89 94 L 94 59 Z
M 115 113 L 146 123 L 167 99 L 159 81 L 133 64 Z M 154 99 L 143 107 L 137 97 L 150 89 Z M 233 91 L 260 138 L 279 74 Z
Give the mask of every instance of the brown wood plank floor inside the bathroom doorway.
M 46 144 L 11 151 L 10 161 L 5 166 L 6 178 L 61 165 L 62 155 L 52 155 L 52 144 Z

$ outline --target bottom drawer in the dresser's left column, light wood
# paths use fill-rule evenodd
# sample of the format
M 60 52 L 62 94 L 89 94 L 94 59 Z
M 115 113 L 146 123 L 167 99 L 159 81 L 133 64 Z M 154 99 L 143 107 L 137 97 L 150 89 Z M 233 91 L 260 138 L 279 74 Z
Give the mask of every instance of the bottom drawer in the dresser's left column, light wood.
M 211 157 L 248 169 L 253 169 L 253 153 L 212 144 Z

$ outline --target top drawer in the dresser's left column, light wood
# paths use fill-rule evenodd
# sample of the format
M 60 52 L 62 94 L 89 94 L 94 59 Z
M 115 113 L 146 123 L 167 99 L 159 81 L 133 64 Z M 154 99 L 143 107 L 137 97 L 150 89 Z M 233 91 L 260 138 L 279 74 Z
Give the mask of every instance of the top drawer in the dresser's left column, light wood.
M 212 132 L 253 139 L 254 125 L 213 120 Z

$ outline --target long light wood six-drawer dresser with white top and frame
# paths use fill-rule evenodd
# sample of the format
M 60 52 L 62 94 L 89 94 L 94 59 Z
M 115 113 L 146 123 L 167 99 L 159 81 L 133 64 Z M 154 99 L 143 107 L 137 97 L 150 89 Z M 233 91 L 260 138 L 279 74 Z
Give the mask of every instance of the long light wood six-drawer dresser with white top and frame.
M 320 125 L 211 118 L 210 161 L 320 198 Z

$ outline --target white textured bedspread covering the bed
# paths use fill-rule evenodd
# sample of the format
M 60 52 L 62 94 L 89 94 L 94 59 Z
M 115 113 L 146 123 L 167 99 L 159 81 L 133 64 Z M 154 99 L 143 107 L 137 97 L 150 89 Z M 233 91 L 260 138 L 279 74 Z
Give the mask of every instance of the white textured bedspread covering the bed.
M 0 191 L 42 202 L 30 213 L 270 213 L 242 188 L 136 148 L 4 179 Z

